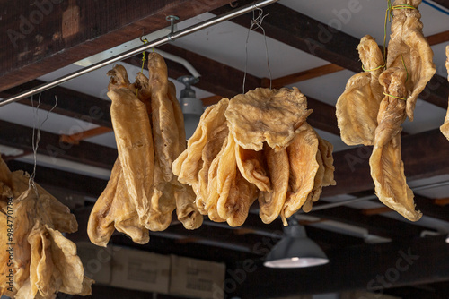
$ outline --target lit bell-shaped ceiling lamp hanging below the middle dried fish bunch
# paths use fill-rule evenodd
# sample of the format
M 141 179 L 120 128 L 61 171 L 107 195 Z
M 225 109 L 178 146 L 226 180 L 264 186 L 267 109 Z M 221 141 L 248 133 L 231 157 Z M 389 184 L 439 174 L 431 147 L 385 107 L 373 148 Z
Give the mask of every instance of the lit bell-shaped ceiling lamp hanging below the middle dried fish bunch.
M 306 268 L 328 262 L 326 253 L 307 237 L 304 226 L 290 218 L 284 228 L 284 237 L 269 252 L 263 265 L 269 268 Z

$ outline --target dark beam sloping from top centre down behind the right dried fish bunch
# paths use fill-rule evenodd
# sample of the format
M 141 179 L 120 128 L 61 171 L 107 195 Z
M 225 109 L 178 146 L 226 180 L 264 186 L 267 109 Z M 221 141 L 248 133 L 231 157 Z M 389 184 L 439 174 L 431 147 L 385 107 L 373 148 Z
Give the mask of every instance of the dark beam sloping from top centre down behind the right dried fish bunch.
M 251 2 L 251 0 L 242 0 L 238 4 L 244 5 Z M 282 4 L 271 4 L 263 10 L 269 15 L 263 21 L 263 29 L 268 37 L 342 66 L 349 71 L 356 73 L 362 71 L 362 64 L 356 50 L 358 38 L 331 28 Z M 224 6 L 211 13 L 221 14 L 228 11 L 229 8 Z M 252 14 L 247 13 L 231 21 L 248 28 L 251 19 Z M 419 98 L 446 109 L 448 93 L 447 80 L 442 76 L 434 75 Z

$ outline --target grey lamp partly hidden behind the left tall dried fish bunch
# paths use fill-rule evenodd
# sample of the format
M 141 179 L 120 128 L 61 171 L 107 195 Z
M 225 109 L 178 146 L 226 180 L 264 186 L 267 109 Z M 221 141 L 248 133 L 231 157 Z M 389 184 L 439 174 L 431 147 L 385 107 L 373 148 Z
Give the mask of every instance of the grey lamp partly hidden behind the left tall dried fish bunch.
M 184 90 L 180 90 L 180 107 L 184 114 L 184 126 L 186 129 L 186 138 L 195 132 L 199 124 L 199 118 L 203 114 L 203 102 L 197 98 L 195 90 L 192 90 L 191 85 L 198 83 L 198 77 L 185 75 L 178 78 L 182 84 L 185 85 Z

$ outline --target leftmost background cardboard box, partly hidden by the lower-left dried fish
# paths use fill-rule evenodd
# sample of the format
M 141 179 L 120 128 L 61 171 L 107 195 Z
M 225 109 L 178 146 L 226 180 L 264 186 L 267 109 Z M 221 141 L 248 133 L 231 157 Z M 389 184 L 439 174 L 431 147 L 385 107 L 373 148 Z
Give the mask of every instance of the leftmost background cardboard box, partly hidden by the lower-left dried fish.
M 96 246 L 90 242 L 76 243 L 76 252 L 83 262 L 84 275 L 97 284 L 109 284 L 112 249 Z

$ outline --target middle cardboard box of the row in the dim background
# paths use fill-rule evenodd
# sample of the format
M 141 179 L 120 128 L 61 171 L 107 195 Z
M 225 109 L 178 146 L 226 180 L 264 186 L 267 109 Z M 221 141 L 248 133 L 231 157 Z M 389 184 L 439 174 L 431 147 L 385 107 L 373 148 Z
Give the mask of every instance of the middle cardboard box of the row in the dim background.
M 169 256 L 114 249 L 110 286 L 168 294 L 169 279 Z

